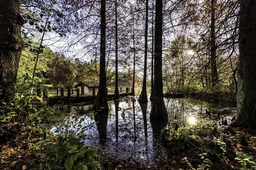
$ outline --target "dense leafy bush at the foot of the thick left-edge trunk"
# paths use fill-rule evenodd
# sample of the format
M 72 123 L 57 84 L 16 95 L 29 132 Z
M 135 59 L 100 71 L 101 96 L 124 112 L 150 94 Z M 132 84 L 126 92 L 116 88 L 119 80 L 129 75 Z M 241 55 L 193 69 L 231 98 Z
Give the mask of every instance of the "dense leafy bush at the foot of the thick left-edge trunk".
M 55 114 L 45 108 L 42 99 L 33 94 L 17 94 L 13 103 L 1 103 L 0 113 L 1 139 L 17 134 L 23 138 L 42 136 L 45 132 L 42 122 L 50 122 L 51 116 Z

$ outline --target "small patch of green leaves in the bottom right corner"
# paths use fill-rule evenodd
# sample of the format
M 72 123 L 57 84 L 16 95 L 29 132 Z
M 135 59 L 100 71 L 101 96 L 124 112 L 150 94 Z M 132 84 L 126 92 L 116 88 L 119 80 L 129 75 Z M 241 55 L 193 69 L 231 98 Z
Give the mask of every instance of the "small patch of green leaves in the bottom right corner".
M 247 169 L 255 169 L 256 168 L 256 162 L 253 160 L 253 156 L 251 155 L 245 155 L 243 153 L 236 153 L 235 158 L 240 164 L 241 164 L 241 170 L 247 170 Z M 251 168 L 248 168 L 250 166 Z

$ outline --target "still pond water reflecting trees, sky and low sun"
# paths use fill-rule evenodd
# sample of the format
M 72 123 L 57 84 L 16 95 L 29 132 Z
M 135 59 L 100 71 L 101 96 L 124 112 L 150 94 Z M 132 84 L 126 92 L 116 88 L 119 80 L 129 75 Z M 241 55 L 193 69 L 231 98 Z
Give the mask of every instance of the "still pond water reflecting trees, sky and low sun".
M 205 113 L 213 106 L 189 98 L 164 101 L 169 126 L 173 120 L 182 120 L 188 125 L 196 124 L 198 119 L 207 116 Z M 100 147 L 101 152 L 106 153 L 106 159 L 126 160 L 129 164 L 157 168 L 168 161 L 168 154 L 161 139 L 152 132 L 150 104 L 140 104 L 138 98 L 126 97 L 120 101 L 109 101 L 109 113 L 97 115 L 93 115 L 92 104 L 55 106 L 54 109 L 69 114 L 51 132 L 67 132 L 75 136 L 85 134 L 83 142 Z M 212 118 L 218 122 L 220 118 L 217 117 Z

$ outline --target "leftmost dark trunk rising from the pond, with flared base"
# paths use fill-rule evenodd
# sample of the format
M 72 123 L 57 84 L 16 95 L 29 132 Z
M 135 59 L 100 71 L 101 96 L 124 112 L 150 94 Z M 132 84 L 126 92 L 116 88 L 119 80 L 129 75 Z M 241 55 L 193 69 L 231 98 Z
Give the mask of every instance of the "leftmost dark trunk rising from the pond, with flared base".
M 108 110 L 108 91 L 106 80 L 106 0 L 101 0 L 100 4 L 100 81 L 93 110 Z

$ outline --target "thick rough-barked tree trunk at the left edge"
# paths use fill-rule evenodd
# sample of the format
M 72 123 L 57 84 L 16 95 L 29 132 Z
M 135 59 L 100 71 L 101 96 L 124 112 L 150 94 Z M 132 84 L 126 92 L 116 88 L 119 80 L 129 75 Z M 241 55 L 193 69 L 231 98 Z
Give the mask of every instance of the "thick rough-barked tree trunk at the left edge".
M 14 99 L 22 47 L 19 0 L 0 1 L 0 101 Z

